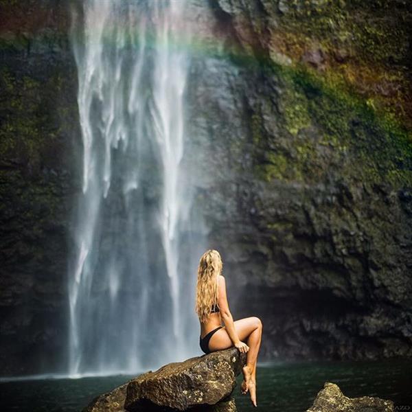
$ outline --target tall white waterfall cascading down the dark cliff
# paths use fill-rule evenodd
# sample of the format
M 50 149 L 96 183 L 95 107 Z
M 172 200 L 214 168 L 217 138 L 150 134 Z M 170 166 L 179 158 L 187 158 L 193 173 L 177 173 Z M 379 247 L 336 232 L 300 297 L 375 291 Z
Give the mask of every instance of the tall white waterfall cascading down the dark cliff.
M 190 30 L 183 0 L 84 0 L 72 12 L 83 172 L 69 374 L 134 373 L 198 354 L 204 247 L 182 167 Z

